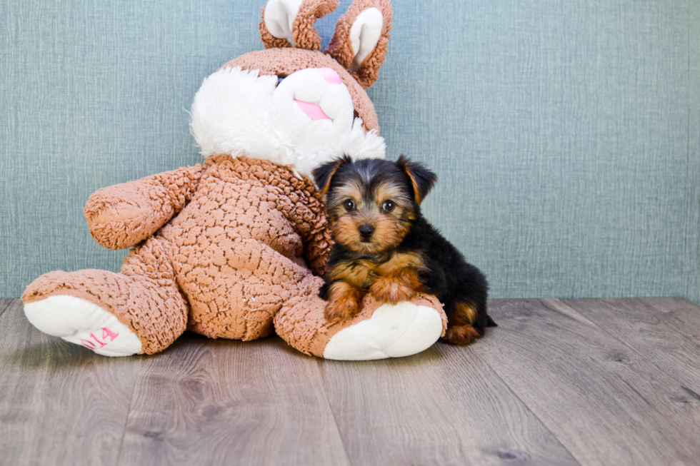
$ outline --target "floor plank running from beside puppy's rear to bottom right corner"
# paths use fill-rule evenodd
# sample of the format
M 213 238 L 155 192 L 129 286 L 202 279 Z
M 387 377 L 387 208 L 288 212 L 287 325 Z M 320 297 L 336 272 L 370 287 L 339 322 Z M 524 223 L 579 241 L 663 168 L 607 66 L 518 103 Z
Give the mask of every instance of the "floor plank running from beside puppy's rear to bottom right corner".
M 700 404 L 569 308 L 496 300 L 484 358 L 582 465 L 695 464 Z

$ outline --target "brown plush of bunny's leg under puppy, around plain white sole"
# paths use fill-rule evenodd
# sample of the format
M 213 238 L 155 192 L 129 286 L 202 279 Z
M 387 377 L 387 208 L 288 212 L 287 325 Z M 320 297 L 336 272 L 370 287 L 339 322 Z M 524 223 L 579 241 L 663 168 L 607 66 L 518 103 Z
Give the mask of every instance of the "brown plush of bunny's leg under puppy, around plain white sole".
M 437 298 L 421 294 L 411 300 L 411 303 L 438 310 L 442 317 L 442 335 L 445 334 L 447 316 Z M 326 343 L 333 335 L 344 328 L 371 318 L 374 310 L 380 305 L 381 303 L 377 303 L 371 295 L 366 295 L 358 315 L 340 323 L 329 324 L 324 317 L 326 301 L 318 295 L 299 296 L 291 298 L 277 313 L 274 320 L 275 330 L 277 335 L 302 353 L 323 358 Z

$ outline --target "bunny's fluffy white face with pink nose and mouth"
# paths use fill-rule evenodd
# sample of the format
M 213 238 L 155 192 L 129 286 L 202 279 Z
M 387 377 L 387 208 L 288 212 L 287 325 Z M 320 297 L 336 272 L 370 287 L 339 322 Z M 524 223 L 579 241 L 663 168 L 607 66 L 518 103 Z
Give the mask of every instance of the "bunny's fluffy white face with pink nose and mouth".
M 384 158 L 384 139 L 364 130 L 331 69 L 304 69 L 282 80 L 221 69 L 202 83 L 191 115 L 191 132 L 207 157 L 263 158 L 311 179 L 314 168 L 343 154 Z

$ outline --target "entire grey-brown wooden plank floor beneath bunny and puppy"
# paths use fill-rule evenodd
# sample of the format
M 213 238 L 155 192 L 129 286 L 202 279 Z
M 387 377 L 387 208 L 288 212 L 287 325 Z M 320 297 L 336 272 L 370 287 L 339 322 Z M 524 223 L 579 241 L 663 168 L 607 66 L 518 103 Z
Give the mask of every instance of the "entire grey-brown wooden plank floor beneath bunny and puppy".
M 700 308 L 493 300 L 466 348 L 309 358 L 186 333 L 104 358 L 0 300 L 0 465 L 700 465 Z

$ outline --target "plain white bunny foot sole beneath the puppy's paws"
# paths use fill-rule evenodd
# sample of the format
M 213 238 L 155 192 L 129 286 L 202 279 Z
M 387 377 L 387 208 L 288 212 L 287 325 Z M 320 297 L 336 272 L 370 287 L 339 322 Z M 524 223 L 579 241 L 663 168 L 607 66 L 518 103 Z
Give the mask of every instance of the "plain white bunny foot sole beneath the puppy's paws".
M 430 348 L 442 333 L 438 311 L 404 302 L 383 304 L 371 318 L 340 330 L 324 349 L 325 359 L 401 358 Z

